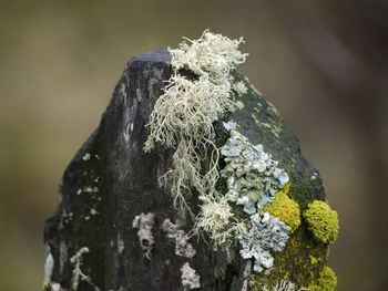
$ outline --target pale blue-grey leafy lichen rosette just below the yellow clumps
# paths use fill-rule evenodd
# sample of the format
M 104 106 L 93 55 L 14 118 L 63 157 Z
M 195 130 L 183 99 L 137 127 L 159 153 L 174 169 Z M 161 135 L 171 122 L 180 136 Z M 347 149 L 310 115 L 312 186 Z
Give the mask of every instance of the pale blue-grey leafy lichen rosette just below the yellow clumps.
M 282 251 L 288 239 L 289 227 L 278 218 L 265 212 L 251 216 L 251 229 L 247 235 L 239 236 L 244 259 L 254 259 L 254 271 L 261 272 L 274 264 L 273 251 Z

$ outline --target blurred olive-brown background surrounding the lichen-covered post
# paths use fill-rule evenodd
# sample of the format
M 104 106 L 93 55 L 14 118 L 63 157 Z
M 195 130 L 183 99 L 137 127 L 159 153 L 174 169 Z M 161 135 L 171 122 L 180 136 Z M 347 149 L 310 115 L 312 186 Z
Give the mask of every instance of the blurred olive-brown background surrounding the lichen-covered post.
M 1 0 L 0 290 L 39 290 L 44 219 L 126 61 L 210 28 L 320 170 L 338 291 L 388 290 L 388 1 Z

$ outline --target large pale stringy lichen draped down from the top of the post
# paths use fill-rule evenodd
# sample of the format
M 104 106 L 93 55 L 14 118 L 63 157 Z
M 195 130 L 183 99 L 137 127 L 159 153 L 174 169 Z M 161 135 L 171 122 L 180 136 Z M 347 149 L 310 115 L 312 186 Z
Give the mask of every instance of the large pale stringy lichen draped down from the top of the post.
M 182 215 L 190 210 L 186 198 L 193 188 L 200 196 L 214 191 L 219 154 L 214 144 L 213 122 L 236 110 L 229 71 L 246 58 L 238 51 L 242 39 L 229 40 L 206 30 L 198 40 L 186 40 L 188 44 L 170 50 L 173 74 L 150 116 L 144 147 L 145 152 L 156 144 L 176 148 L 172 169 L 163 178 Z M 197 77 L 188 80 L 181 69 Z M 206 170 L 198 153 L 208 156 Z

